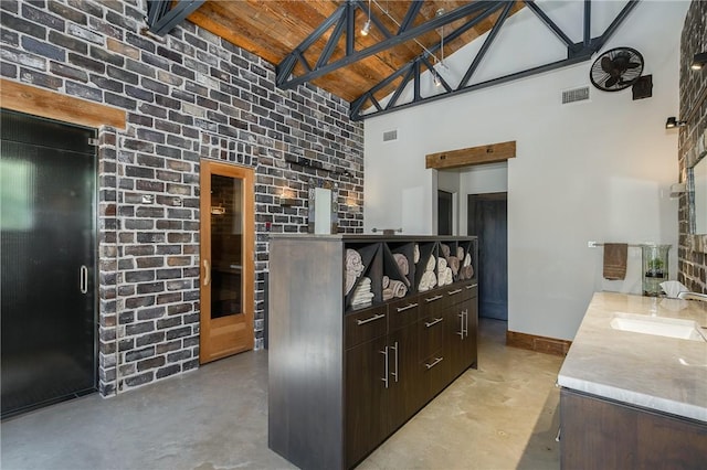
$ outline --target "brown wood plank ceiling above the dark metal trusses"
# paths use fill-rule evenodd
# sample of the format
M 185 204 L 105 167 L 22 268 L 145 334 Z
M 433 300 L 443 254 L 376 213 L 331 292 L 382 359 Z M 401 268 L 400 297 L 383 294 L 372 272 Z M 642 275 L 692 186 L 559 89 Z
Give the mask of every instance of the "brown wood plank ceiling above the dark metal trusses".
M 252 52 L 271 62 L 281 64 L 293 51 L 319 28 L 329 17 L 334 15 L 342 3 L 347 0 L 208 0 L 187 19 L 199 26 L 228 40 L 229 42 Z M 426 0 L 419 1 L 420 10 L 412 19 L 408 30 L 423 25 L 425 22 L 435 19 L 437 12 L 449 13 L 455 9 L 467 6 L 469 1 L 457 0 Z M 387 39 L 386 33 L 376 26 L 370 29 L 368 35 L 362 35 L 360 30 L 368 20 L 368 7 L 370 4 L 371 17 L 379 20 L 379 23 L 390 32 L 397 34 L 400 24 L 405 21 L 410 11 L 411 0 L 371 0 L 371 2 L 354 2 L 355 20 L 354 38 L 355 51 L 362 51 L 373 46 Z M 524 8 L 520 1 L 515 2 L 510 14 Z M 447 38 L 458 26 L 469 22 L 481 14 L 476 11 L 451 22 L 443 28 L 436 28 L 414 39 L 400 42 L 392 47 L 378 52 L 374 55 L 363 57 L 347 66 L 337 68 L 310 82 L 347 102 L 354 102 L 379 84 L 384 78 L 391 76 L 410 61 L 423 55 L 440 44 L 442 34 Z M 500 10 L 479 21 L 475 26 L 468 29 L 458 38 L 444 42 L 444 55 L 449 56 L 460 47 L 475 40 L 479 35 L 489 31 L 495 24 Z M 335 26 L 325 31 L 321 36 L 309 47 L 303 51 L 303 56 L 308 64 L 316 64 L 318 57 L 327 47 L 329 38 L 333 35 Z M 388 36 L 390 38 L 390 36 Z M 342 34 L 338 42 L 334 44 L 334 51 L 329 62 L 344 58 L 346 55 L 346 34 Z M 441 51 L 436 51 L 430 57 L 434 65 L 441 57 Z M 306 73 L 306 67 L 298 62 L 293 70 L 294 75 Z M 391 82 L 388 86 L 374 90 L 376 99 L 383 99 L 394 92 L 400 85 L 401 78 Z

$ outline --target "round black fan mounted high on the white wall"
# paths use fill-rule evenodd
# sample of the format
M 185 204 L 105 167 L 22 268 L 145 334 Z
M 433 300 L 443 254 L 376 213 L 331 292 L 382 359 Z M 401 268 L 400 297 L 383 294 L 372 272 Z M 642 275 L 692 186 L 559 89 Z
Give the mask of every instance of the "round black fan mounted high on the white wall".
M 597 88 L 619 92 L 633 85 L 643 72 L 643 55 L 635 49 L 616 47 L 602 53 L 592 64 L 589 78 Z

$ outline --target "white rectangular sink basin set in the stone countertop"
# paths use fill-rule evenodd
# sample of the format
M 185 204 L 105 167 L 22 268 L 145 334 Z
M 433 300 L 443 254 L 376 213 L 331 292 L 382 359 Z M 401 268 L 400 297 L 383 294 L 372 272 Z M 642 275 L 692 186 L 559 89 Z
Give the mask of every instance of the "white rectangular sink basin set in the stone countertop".
M 693 320 L 677 318 L 646 317 L 633 313 L 615 313 L 611 328 L 633 333 L 654 334 L 680 340 L 707 341 Z

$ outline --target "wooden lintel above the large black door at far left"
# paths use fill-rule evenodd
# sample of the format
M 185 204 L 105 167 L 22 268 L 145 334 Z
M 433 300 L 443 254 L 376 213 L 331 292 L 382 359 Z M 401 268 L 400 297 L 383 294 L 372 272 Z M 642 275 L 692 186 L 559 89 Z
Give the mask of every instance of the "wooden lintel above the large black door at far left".
M 125 129 L 123 109 L 3 78 L 0 107 L 80 126 Z

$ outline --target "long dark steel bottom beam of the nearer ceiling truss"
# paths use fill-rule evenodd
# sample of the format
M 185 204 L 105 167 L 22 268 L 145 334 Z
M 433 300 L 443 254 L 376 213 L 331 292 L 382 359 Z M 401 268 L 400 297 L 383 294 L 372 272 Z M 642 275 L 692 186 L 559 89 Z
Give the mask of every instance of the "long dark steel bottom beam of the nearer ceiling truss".
M 403 31 L 400 34 L 395 34 L 390 36 L 389 39 L 386 39 L 370 47 L 367 47 L 365 50 L 361 51 L 357 51 L 354 52 L 352 54 L 347 54 L 345 55 L 342 58 L 339 58 L 338 61 L 335 61 L 330 64 L 324 65 L 321 67 L 315 68 L 314 71 L 309 72 L 309 73 L 305 73 L 300 76 L 297 77 L 292 77 L 292 78 L 287 78 L 284 75 L 284 70 L 281 71 L 281 65 L 283 63 L 286 63 L 288 61 L 288 57 L 285 57 L 285 60 L 283 62 L 281 62 L 281 65 L 277 66 L 277 77 L 276 81 L 278 83 L 278 86 L 281 88 L 294 88 L 297 85 L 300 85 L 305 82 L 310 82 L 317 77 L 320 77 L 323 75 L 326 75 L 330 72 L 334 72 L 338 68 L 345 67 L 347 65 L 350 65 L 355 62 L 358 62 L 362 58 L 369 57 L 371 55 L 374 55 L 379 52 L 382 52 L 387 49 L 390 49 L 394 45 L 398 45 L 400 43 L 403 43 L 405 41 L 410 41 L 413 40 L 415 38 L 418 38 L 421 34 L 428 33 L 430 31 L 434 31 L 437 28 L 441 28 L 445 24 L 452 23 L 456 20 L 463 19 L 465 17 L 468 17 L 471 14 L 481 12 L 481 11 L 485 11 L 486 9 L 489 8 L 489 6 L 499 6 L 505 3 L 503 0 L 500 1 L 475 1 L 472 3 L 467 3 L 463 7 L 460 7 L 446 14 L 443 14 L 441 17 L 436 17 L 428 22 L 425 22 L 424 24 L 421 24 L 419 26 L 409 29 L 407 31 Z M 342 6 L 345 7 L 345 4 Z M 340 8 L 342 8 L 340 7 Z M 371 15 L 372 17 L 372 15 Z M 376 20 L 373 20 L 373 23 L 376 22 Z M 319 26 L 321 28 L 321 26 Z M 383 30 L 381 30 L 383 31 Z M 348 33 L 352 33 L 352 32 L 347 32 Z M 309 45 L 312 45 L 312 43 L 307 43 L 304 42 L 303 44 L 300 44 L 299 46 L 297 46 L 297 51 L 304 51 L 306 50 Z

